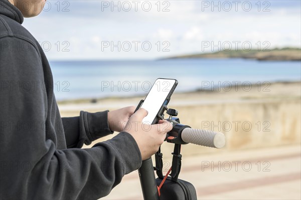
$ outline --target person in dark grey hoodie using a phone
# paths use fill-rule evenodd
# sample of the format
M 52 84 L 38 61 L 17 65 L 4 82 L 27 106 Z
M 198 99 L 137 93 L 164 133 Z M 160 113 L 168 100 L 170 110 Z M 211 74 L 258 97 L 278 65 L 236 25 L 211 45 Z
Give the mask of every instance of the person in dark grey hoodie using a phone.
M 134 106 L 61 117 L 47 58 L 22 26 L 44 1 L 0 0 L 0 198 L 97 199 L 154 154 L 172 125 L 143 124 L 147 111 Z

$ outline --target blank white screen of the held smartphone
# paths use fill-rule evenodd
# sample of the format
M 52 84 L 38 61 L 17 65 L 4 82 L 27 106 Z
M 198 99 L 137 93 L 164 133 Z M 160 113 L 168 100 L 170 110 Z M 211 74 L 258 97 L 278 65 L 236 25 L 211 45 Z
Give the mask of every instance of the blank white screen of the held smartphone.
M 158 78 L 156 80 L 141 105 L 148 111 L 148 114 L 142 119 L 142 123 L 152 124 L 175 82 L 174 79 Z

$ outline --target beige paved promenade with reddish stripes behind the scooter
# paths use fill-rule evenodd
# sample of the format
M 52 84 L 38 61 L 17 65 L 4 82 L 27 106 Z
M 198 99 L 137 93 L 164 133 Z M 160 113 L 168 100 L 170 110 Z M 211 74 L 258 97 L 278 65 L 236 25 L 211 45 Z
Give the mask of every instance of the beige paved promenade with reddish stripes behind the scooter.
M 180 178 L 192 182 L 198 199 L 301 199 L 301 146 L 235 150 L 185 156 Z M 164 169 L 171 156 L 164 156 Z M 101 189 L 101 188 L 100 188 Z M 142 199 L 136 171 L 103 199 Z

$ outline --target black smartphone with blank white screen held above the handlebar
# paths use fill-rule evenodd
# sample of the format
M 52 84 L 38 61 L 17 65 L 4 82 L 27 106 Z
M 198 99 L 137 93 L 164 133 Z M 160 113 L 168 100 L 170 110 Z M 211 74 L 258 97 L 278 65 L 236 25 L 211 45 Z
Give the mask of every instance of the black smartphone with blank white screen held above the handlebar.
M 176 79 L 158 78 L 155 81 L 140 106 L 148 111 L 148 114 L 142 119 L 142 123 L 158 123 L 159 116 L 162 116 L 164 112 L 162 107 L 169 103 L 177 85 L 178 80 Z

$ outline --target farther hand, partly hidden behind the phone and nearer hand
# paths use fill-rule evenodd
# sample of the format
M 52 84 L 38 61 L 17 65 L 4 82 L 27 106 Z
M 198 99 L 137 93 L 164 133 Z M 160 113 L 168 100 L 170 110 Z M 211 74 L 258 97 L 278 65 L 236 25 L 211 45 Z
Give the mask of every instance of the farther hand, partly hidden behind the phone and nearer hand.
M 121 132 L 129 117 L 134 113 L 135 106 L 123 107 L 108 112 L 108 123 L 112 131 Z

